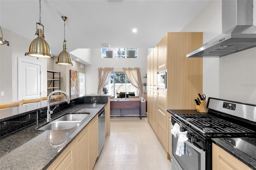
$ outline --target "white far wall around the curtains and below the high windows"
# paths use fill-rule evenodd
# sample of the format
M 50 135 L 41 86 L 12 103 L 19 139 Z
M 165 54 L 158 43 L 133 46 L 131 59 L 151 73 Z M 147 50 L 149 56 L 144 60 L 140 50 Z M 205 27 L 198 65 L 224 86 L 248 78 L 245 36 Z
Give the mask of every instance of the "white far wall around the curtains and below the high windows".
M 122 70 L 122 67 L 140 67 L 142 82 L 147 70 L 146 57 L 148 49 L 138 49 L 138 58 L 102 58 L 101 49 L 92 49 L 92 65 L 85 68 L 85 92 L 86 94 L 98 93 L 98 68 L 114 67 L 114 70 Z

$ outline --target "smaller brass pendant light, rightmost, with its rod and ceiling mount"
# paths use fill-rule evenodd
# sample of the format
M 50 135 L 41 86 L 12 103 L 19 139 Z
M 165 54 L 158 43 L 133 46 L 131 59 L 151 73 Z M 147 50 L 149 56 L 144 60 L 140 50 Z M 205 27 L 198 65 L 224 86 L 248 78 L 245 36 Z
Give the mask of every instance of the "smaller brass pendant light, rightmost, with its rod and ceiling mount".
M 58 61 L 56 61 L 56 64 L 59 65 L 72 65 L 72 59 L 70 57 L 70 54 L 68 53 L 68 51 L 66 51 L 66 32 L 65 32 L 65 22 L 68 19 L 68 17 L 66 16 L 62 16 L 61 17 L 62 20 L 64 21 L 64 42 L 63 42 L 63 51 L 60 52 L 59 56 L 58 56 Z

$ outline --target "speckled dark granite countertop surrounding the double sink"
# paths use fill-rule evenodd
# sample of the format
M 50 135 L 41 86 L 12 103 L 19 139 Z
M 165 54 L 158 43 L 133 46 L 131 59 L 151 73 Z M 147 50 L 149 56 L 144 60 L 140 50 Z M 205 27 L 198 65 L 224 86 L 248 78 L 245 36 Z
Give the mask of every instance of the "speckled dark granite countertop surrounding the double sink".
M 105 105 L 106 103 L 78 104 L 52 115 L 54 119 L 69 112 L 82 110 L 90 113 L 78 126 L 68 130 L 36 130 L 36 127 L 46 122 L 43 120 L 4 136 L 0 139 L 0 169 L 46 169 Z M 62 145 L 53 146 L 54 144 Z

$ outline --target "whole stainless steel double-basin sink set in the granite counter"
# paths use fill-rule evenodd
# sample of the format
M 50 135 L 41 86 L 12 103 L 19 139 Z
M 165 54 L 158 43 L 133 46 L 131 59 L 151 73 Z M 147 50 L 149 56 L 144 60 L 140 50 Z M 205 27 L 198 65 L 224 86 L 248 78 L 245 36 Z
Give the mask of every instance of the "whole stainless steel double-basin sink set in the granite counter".
M 38 127 L 37 130 L 66 130 L 75 127 L 78 123 L 88 117 L 90 113 L 65 113 L 56 119 L 46 122 Z

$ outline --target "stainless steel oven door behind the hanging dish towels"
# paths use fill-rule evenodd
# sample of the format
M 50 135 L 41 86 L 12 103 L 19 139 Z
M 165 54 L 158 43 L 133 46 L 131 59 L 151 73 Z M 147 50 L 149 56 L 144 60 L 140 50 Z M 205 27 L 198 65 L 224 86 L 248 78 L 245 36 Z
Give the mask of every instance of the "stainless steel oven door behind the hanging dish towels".
M 172 170 L 205 170 L 206 169 L 206 152 L 189 141 L 185 141 L 186 149 L 190 150 L 191 155 L 176 154 L 178 137 L 172 135 Z

